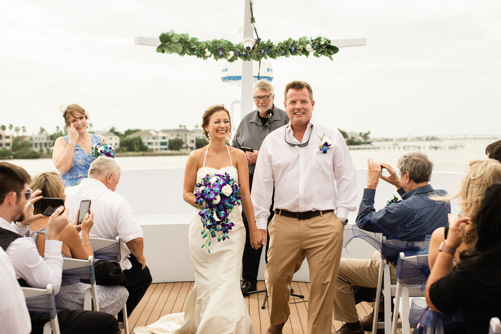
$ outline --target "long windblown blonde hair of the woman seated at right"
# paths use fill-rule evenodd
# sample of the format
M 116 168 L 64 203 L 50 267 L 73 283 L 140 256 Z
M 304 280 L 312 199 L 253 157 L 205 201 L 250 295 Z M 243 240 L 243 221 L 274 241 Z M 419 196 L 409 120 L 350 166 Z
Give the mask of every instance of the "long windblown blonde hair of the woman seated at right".
M 501 181 L 501 163 L 494 159 L 474 159 L 469 163 L 469 170 L 459 182 L 456 189 L 445 196 L 432 196 L 434 200 L 452 200 L 459 198 L 458 204 L 470 224 L 466 228 L 464 240 L 474 244 L 477 239 L 476 217 L 480 209 L 480 202 L 485 190 L 495 182 Z

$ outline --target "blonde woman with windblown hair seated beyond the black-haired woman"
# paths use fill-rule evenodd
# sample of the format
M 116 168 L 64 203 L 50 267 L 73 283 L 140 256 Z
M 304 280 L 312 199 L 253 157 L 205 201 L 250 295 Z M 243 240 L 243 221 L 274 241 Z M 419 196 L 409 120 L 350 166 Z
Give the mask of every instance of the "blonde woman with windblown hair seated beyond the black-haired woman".
M 459 205 L 466 217 L 469 217 L 470 224 L 466 228 L 466 233 L 461 244 L 454 254 L 454 261 L 459 262 L 459 252 L 473 247 L 476 242 L 476 216 L 480 209 L 480 200 L 485 193 L 485 189 L 494 183 L 501 182 L 501 164 L 493 159 L 476 159 L 469 163 L 469 170 L 461 179 L 458 191 L 443 197 L 434 197 L 436 200 L 453 200 L 459 198 Z M 433 268 L 438 255 L 438 247 L 447 239 L 449 227 L 439 227 L 433 231 L 430 240 L 428 263 Z

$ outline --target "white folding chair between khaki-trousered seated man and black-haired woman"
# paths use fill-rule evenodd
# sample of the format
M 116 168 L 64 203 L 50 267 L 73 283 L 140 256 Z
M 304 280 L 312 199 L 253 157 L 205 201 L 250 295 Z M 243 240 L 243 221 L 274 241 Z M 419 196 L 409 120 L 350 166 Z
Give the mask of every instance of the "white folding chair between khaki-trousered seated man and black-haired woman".
M 407 266 L 414 265 L 416 268 L 419 266 L 422 267 L 423 265 L 426 266 L 428 265 L 428 254 L 405 256 L 405 254 L 401 252 L 398 259 L 398 263 L 399 265 L 401 265 L 401 270 L 404 270 L 402 268 L 404 261 L 407 262 L 408 264 Z M 419 271 L 419 269 L 417 269 L 417 271 Z M 395 298 L 393 299 L 394 308 L 393 308 L 393 323 L 391 326 L 392 334 L 396 334 L 397 332 L 397 326 L 399 326 L 397 319 L 399 314 L 400 314 L 400 319 L 402 321 L 400 324 L 402 328 L 402 333 L 410 332 L 409 312 L 410 312 L 410 303 L 412 302 L 412 297 L 424 296 L 424 291 L 421 291 L 421 284 L 426 279 L 426 277 L 422 277 L 422 275 L 420 275 L 419 280 L 412 280 L 411 279 L 412 277 L 405 276 L 405 273 L 403 271 L 402 275 L 404 277 L 402 277 L 401 279 L 397 275 L 396 292 L 395 292 Z M 403 285 L 402 283 L 405 285 Z

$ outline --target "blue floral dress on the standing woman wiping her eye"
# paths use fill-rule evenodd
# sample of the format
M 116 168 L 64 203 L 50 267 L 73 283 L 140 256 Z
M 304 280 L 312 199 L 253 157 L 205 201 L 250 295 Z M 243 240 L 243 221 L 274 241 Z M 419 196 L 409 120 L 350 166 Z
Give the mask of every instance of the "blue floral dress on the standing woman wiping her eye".
M 101 141 L 99 139 L 99 135 L 93 133 L 90 133 L 90 135 L 92 137 L 92 146 Z M 67 135 L 64 136 L 64 139 L 66 140 L 66 144 L 68 144 L 69 138 Z M 76 144 L 75 154 L 73 154 L 73 163 L 71 164 L 70 170 L 61 174 L 64 186 L 68 187 L 80 184 L 82 178 L 87 177 L 89 167 L 95 159 L 96 158 L 94 156 L 84 151 L 79 144 Z

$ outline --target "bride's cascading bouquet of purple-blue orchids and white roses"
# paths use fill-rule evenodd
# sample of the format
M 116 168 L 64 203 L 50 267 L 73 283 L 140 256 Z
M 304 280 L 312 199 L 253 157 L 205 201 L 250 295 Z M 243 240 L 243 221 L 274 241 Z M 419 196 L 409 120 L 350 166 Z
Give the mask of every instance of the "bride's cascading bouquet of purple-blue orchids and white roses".
M 195 193 L 195 203 L 202 217 L 203 242 L 202 247 L 206 247 L 210 253 L 210 239 L 219 232 L 217 241 L 229 239 L 228 230 L 234 225 L 228 220 L 228 215 L 235 205 L 240 205 L 242 197 L 238 192 L 239 184 L 235 182 L 229 174 L 207 174 L 200 183 L 197 183 Z M 205 206 L 202 207 L 203 202 Z

